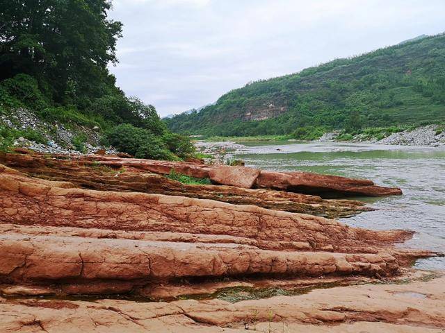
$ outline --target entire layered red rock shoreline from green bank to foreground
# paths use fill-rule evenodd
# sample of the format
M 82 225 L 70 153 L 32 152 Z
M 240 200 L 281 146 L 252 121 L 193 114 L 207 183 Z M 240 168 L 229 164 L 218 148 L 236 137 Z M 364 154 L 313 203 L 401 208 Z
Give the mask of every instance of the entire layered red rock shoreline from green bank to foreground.
M 440 255 L 351 228 L 371 180 L 115 155 L 0 155 L 2 332 L 441 332 Z M 213 185 L 165 178 L 172 170 Z M 308 194 L 307 192 L 311 192 Z M 246 205 L 246 203 L 248 205 Z

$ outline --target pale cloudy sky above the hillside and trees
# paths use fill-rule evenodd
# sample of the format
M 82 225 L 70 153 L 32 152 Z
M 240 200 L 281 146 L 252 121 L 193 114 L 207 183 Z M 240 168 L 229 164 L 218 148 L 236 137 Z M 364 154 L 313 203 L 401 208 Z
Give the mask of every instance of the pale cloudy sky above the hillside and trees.
M 161 117 L 250 81 L 445 31 L 445 0 L 113 0 L 110 67 Z

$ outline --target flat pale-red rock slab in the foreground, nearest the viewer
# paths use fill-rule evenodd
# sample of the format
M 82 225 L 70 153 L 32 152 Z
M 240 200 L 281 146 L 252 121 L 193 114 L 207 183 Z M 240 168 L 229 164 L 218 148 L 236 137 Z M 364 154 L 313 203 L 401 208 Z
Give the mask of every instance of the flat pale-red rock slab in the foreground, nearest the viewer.
M 3 332 L 389 332 L 439 333 L 445 280 L 316 289 L 231 304 L 0 298 Z M 414 297 L 414 294 L 423 296 Z

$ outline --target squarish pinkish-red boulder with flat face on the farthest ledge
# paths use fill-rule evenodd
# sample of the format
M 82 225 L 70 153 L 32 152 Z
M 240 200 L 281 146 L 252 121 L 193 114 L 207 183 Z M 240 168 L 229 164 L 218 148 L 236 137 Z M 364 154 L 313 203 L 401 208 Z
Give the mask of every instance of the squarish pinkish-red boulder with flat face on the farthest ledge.
M 250 189 L 259 176 L 259 169 L 246 167 L 216 167 L 209 172 L 209 178 L 218 184 Z

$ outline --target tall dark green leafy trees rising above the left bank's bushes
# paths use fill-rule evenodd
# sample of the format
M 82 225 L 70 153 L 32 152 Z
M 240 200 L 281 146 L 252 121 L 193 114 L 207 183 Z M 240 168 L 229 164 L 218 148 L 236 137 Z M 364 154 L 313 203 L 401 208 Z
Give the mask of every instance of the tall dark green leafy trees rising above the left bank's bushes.
M 0 0 L 0 80 L 28 74 L 56 102 L 81 106 L 116 90 L 106 66 L 117 62 L 122 24 L 108 0 Z

